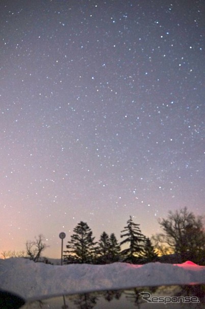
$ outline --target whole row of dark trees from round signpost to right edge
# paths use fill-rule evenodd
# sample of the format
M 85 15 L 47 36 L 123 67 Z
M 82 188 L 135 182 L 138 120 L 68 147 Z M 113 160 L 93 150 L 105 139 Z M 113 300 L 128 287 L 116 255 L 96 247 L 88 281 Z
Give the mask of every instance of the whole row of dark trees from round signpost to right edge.
M 202 217 L 196 217 L 185 207 L 179 211 L 169 211 L 168 218 L 159 220 L 159 224 L 164 233 L 156 234 L 150 240 L 142 234 L 140 225 L 130 216 L 121 231 L 121 242 L 118 242 L 114 233 L 109 235 L 105 231 L 96 242 L 91 228 L 86 222 L 81 221 L 73 229 L 71 240 L 66 245 L 64 264 L 145 264 L 159 260 L 166 263 L 192 260 L 196 264 L 205 264 L 205 231 Z M 124 245 L 127 247 L 122 249 Z

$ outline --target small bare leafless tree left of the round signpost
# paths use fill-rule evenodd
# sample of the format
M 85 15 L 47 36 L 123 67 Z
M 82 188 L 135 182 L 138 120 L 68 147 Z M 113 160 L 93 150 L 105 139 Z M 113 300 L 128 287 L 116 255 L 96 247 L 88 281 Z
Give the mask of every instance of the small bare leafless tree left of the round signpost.
M 45 237 L 39 234 L 35 237 L 35 241 L 27 241 L 25 247 L 27 249 L 27 255 L 34 262 L 38 262 L 42 252 L 48 247 L 45 243 Z

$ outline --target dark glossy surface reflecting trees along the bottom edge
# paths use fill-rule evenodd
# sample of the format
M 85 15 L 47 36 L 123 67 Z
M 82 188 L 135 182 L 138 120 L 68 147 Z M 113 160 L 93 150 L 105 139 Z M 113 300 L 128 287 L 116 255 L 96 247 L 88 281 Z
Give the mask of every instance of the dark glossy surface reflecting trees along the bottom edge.
M 153 309 L 204 308 L 205 285 L 138 287 L 125 290 L 95 291 L 41 299 L 21 309 Z M 143 297 L 143 295 L 149 297 Z

